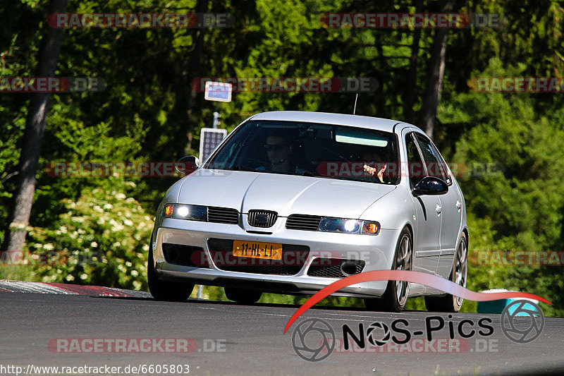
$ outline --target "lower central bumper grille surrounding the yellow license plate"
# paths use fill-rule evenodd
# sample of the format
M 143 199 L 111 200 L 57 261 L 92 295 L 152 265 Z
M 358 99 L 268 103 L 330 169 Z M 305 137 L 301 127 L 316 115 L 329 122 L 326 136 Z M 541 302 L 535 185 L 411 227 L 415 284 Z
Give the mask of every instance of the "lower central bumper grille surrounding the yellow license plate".
M 229 239 L 211 238 L 208 246 L 216 267 L 226 272 L 295 275 L 305 265 L 309 255 L 309 247 L 305 245 L 283 244 L 282 260 L 234 256 L 233 241 Z

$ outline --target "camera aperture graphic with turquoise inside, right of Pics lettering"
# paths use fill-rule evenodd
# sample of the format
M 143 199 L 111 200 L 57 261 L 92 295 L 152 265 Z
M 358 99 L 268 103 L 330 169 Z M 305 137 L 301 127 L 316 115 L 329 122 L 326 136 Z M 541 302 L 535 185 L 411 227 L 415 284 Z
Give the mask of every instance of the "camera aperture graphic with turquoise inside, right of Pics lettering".
M 534 341 L 543 328 L 544 315 L 539 305 L 532 301 L 514 301 L 501 313 L 501 331 L 518 344 Z

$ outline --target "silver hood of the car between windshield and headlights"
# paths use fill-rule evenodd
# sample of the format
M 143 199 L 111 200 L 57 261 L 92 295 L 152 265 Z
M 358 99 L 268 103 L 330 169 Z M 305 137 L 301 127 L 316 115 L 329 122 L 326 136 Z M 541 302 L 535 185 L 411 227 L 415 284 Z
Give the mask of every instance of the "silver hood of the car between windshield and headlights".
M 310 176 L 199 169 L 183 179 L 178 202 L 231 207 L 243 213 L 272 210 L 280 217 L 309 214 L 356 219 L 395 188 Z

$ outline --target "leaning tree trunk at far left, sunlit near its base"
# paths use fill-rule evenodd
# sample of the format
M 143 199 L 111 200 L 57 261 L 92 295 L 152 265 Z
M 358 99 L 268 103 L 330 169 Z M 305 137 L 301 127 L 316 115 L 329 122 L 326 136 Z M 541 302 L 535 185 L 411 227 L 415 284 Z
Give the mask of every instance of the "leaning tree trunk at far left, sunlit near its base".
M 66 13 L 68 0 L 51 0 L 51 13 Z M 51 29 L 48 25 L 47 35 L 39 53 L 39 69 L 37 77 L 54 77 L 63 29 Z M 25 227 L 30 222 L 33 195 L 35 193 L 35 174 L 39 162 L 39 150 L 45 130 L 47 109 L 49 108 L 48 92 L 37 92 L 32 95 L 30 107 L 25 121 L 25 133 L 20 154 L 19 174 L 13 207 L 8 219 L 8 229 L 4 238 L 4 250 L 21 250 L 25 243 L 27 231 Z

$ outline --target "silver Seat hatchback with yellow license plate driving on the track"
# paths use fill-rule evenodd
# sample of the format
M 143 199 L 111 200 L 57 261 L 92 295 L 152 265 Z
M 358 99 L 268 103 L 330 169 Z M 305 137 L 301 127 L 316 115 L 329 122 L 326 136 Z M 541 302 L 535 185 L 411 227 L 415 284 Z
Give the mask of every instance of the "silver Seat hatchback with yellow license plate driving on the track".
M 272 111 L 243 121 L 157 210 L 148 281 L 185 301 L 195 284 L 255 303 L 263 292 L 313 294 L 382 269 L 462 286 L 468 229 L 460 186 L 423 131 L 367 116 Z M 399 312 L 411 296 L 458 312 L 462 299 L 405 281 L 353 284 L 338 296 Z

